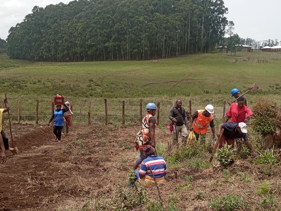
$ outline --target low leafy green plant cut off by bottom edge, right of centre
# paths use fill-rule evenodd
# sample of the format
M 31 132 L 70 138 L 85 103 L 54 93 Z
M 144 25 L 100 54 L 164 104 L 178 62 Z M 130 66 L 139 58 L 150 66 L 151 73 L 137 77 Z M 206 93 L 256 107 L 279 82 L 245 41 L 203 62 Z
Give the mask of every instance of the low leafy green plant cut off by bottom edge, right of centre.
M 208 206 L 214 211 L 246 210 L 248 205 L 237 195 L 227 195 L 223 198 L 217 197 L 209 201 Z

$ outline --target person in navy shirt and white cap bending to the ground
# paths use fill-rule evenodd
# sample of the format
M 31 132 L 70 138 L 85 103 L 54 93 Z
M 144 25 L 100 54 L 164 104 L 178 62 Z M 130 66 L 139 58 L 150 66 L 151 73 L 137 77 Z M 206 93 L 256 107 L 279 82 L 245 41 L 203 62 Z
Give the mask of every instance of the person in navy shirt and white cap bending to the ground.
M 220 131 L 224 129 L 222 137 L 220 137 Z M 257 156 L 257 153 L 253 149 L 248 136 L 247 136 L 247 125 L 244 122 L 227 122 L 220 124 L 217 129 L 217 137 L 220 137 L 219 149 L 222 148 L 225 143 L 234 147 L 234 139 L 243 138 L 246 145 L 251 149 L 252 153 Z

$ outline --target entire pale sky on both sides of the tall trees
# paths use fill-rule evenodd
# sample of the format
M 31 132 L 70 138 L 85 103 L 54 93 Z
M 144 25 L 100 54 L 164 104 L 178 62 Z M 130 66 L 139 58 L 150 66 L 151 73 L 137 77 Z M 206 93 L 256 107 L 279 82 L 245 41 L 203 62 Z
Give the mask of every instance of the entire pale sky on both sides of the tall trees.
M 234 22 L 234 33 L 241 38 L 257 41 L 278 39 L 281 41 L 281 0 L 223 0 L 228 8 L 227 19 Z M 0 38 L 6 40 L 8 30 L 31 13 L 36 5 L 45 8 L 49 4 L 69 0 L 0 0 Z M 3 3 L 4 2 L 4 3 Z

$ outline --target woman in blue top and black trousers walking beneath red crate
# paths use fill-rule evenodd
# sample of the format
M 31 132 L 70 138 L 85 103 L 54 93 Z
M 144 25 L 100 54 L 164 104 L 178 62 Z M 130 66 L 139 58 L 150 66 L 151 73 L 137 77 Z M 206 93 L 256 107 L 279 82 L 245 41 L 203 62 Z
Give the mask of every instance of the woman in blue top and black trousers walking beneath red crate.
M 53 132 L 56 135 L 56 140 L 58 142 L 61 142 L 61 131 L 62 128 L 64 127 L 64 113 L 69 110 L 68 106 L 64 104 L 64 108 L 61 109 L 61 105 L 56 105 L 56 108 L 54 110 L 54 113 L 52 114 L 48 126 L 54 120 L 54 126 L 53 126 Z

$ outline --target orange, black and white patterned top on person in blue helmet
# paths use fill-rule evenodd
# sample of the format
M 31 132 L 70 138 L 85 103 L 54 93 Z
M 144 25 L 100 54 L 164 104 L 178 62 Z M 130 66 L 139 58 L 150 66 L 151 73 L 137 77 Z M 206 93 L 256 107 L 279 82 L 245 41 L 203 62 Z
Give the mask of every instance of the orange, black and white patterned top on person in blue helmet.
M 149 118 L 152 117 L 152 114 L 145 114 L 142 126 L 140 128 L 140 131 L 138 132 L 137 138 L 136 138 L 136 150 L 138 151 L 138 148 L 140 150 L 143 150 L 147 145 L 150 144 L 150 132 L 149 132 Z M 156 125 L 154 125 L 154 131 L 155 131 Z

